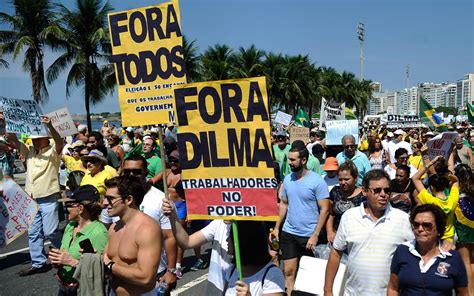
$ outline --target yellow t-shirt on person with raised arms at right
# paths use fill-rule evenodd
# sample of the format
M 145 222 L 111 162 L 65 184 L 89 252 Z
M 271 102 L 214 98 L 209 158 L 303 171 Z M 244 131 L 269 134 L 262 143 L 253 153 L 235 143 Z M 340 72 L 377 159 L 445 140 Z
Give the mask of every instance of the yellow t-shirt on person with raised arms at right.
M 452 242 L 454 238 L 454 210 L 459 202 L 459 188 L 457 186 L 451 187 L 451 192 L 445 200 L 434 197 L 426 189 L 423 189 L 418 194 L 418 200 L 420 200 L 422 204 L 437 205 L 448 215 L 442 239 L 448 239 Z

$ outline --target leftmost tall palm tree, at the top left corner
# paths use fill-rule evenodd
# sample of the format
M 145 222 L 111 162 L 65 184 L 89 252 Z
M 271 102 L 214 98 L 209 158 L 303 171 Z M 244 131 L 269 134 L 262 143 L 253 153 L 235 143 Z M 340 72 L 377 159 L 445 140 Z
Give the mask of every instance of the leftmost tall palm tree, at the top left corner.
M 56 48 L 56 38 L 61 38 L 61 31 L 49 0 L 14 0 L 13 6 L 13 15 L 0 12 L 0 23 L 9 27 L 9 30 L 0 31 L 0 52 L 13 54 L 13 61 L 24 52 L 22 66 L 30 74 L 33 99 L 42 103 L 48 99 L 44 48 L 47 45 Z

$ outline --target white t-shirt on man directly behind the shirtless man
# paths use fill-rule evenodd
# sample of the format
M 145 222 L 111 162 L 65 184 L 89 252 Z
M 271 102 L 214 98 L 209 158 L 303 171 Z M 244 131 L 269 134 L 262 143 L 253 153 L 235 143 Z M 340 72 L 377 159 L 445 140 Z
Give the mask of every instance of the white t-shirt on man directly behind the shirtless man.
M 165 194 L 155 187 L 151 186 L 150 190 L 143 197 L 143 201 L 140 204 L 140 211 L 147 214 L 158 224 L 160 224 L 162 230 L 171 229 L 170 219 L 163 214 L 161 211 L 161 205 L 163 204 L 163 199 Z M 158 273 L 166 269 L 167 258 L 165 252 L 165 246 L 161 248 L 161 259 L 160 266 L 158 267 Z

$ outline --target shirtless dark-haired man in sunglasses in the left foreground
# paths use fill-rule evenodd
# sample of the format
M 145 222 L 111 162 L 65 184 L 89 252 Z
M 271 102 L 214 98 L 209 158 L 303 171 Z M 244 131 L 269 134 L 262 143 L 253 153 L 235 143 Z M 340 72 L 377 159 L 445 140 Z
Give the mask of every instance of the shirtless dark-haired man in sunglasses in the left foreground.
M 104 264 L 111 275 L 109 295 L 154 295 L 160 263 L 161 228 L 138 209 L 145 189 L 140 179 L 120 176 L 106 181 L 103 205 L 120 220 L 109 229 Z

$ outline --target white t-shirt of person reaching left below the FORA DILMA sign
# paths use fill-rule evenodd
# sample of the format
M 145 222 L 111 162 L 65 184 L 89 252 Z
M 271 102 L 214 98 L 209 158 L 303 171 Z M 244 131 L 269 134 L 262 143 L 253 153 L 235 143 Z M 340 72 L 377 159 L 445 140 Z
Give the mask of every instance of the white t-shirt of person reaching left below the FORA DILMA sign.
M 207 241 L 212 241 L 211 262 L 207 280 L 221 291 L 224 291 L 225 275 L 231 267 L 229 254 L 227 254 L 227 238 L 230 229 L 231 224 L 225 224 L 224 220 L 213 220 L 200 230 Z

